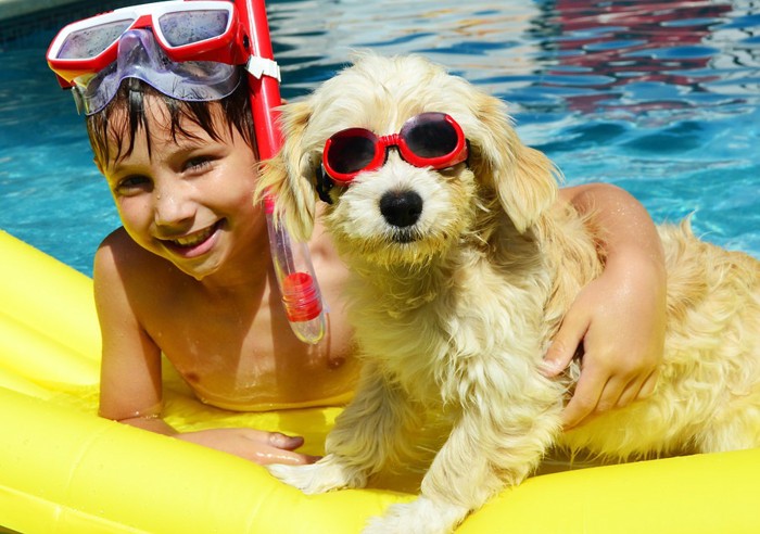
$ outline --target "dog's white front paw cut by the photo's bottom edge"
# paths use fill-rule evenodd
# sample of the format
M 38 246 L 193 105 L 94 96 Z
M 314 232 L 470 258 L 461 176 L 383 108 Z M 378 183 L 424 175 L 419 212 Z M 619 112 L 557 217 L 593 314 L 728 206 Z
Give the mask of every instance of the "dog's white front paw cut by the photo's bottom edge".
M 382 517 L 372 518 L 363 534 L 448 534 L 469 510 L 449 503 L 419 497 L 407 504 L 392 505 Z

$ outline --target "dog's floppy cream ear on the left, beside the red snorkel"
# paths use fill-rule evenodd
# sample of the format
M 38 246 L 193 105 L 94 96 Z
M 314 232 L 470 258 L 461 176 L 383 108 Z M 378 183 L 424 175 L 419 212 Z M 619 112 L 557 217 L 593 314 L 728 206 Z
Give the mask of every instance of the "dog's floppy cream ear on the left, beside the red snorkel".
M 254 192 L 254 202 L 262 201 L 267 193 L 277 199 L 275 221 L 284 224 L 291 236 L 299 241 L 308 241 L 312 237 L 316 208 L 312 178 L 318 162 L 303 152 L 304 131 L 311 116 L 312 106 L 307 102 L 282 107 L 284 141 L 275 157 L 262 162 Z

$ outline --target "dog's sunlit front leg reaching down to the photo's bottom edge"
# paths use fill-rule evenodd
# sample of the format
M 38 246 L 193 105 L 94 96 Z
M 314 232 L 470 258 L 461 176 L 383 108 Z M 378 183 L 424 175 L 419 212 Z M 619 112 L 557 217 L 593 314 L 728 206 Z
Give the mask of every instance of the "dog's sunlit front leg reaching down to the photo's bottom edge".
M 511 387 L 478 392 L 473 385 L 473 398 L 422 480 L 421 496 L 391 506 L 365 534 L 448 533 L 493 495 L 522 482 L 560 430 L 560 392 L 533 374 L 524 398 Z M 505 394 L 509 390 L 512 395 Z

